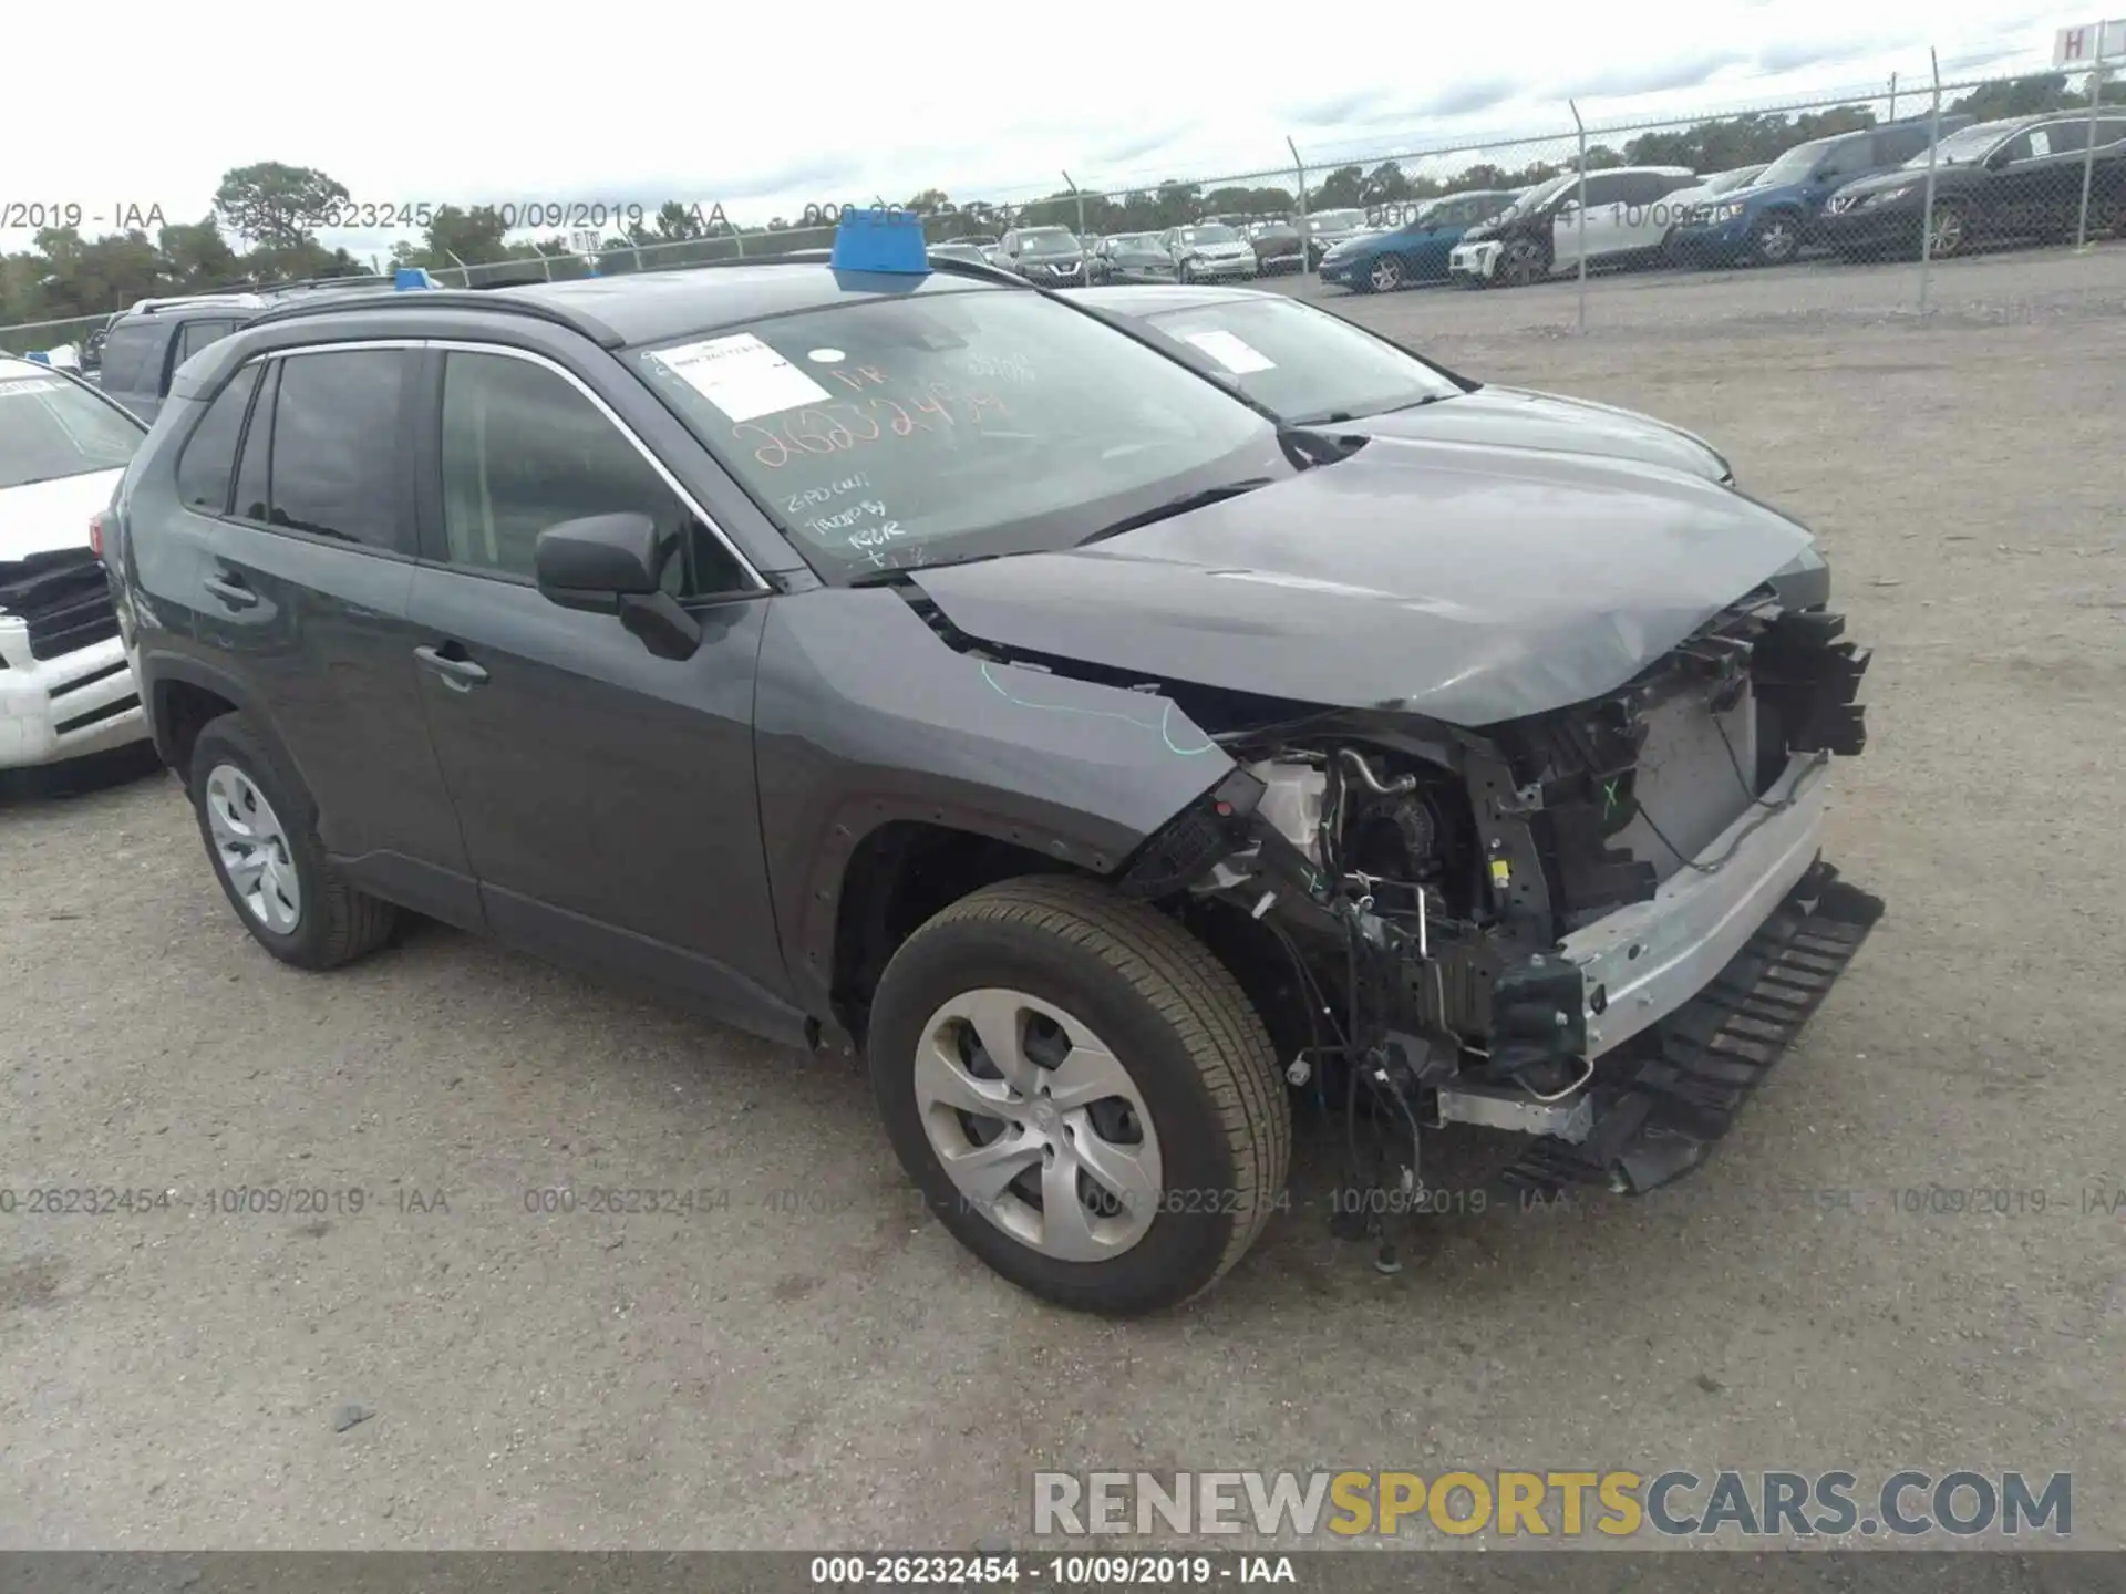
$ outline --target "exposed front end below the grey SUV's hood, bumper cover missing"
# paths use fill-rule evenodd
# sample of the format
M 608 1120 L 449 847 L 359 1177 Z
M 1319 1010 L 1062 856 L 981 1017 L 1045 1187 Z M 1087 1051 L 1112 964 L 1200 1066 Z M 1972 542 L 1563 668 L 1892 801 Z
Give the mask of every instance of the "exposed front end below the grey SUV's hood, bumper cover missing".
M 1767 587 L 1626 686 L 1467 731 L 1339 712 L 1242 765 L 1127 869 L 1263 925 L 1305 1005 L 1288 1082 L 1407 1126 L 1535 1137 L 1509 1177 L 1641 1192 L 1694 1167 L 1875 905 L 1822 863 L 1869 657 Z M 1290 1033 L 1290 1014 L 1284 1014 Z

